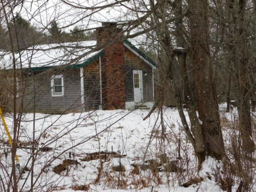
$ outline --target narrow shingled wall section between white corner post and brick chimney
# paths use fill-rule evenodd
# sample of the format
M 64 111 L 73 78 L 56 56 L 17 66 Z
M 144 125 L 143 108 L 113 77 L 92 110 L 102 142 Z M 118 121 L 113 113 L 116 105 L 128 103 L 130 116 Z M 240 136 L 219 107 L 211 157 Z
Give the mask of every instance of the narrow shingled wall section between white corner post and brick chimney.
M 98 109 L 100 103 L 99 59 L 84 67 L 84 109 Z

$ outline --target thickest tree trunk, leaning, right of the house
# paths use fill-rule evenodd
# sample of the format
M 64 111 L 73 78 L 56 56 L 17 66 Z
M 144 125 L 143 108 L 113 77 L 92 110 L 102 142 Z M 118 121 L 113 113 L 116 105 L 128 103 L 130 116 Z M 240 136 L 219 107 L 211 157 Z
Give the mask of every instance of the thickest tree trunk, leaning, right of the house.
M 209 50 L 208 1 L 189 0 L 190 56 L 194 68 L 195 94 L 206 154 L 222 159 L 225 154 L 220 127 L 216 87 Z

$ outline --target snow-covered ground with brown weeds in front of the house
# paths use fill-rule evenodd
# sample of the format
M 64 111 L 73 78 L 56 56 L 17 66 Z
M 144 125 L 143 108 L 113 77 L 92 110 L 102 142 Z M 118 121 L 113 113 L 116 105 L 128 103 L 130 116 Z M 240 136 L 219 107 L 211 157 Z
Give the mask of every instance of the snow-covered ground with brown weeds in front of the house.
M 146 192 L 152 191 L 152 187 L 153 191 L 162 192 L 222 192 L 220 186 L 206 174 L 214 174 L 211 167 L 221 168 L 221 163 L 209 158 L 203 164 L 203 170 L 197 172 L 196 158 L 182 131 L 178 111 L 174 108 L 164 109 L 164 140 L 161 134 L 160 114 L 154 112 L 150 118 L 143 121 L 148 112 L 149 110 L 97 110 L 62 116 L 35 114 L 35 117 L 33 114 L 26 114 L 22 118 L 19 138 L 21 144 L 17 150 L 20 166 L 32 166 L 32 148 L 29 142 L 32 142 L 34 129 L 34 137 L 38 141 L 33 177 L 33 181 L 36 181 L 35 191 L 70 192 L 74 191 L 74 186 L 88 185 L 89 190 L 106 192 Z M 12 130 L 12 117 L 7 115 L 5 118 Z M 228 118 L 231 118 L 231 115 L 228 115 Z M 0 130 L 1 140 L 6 142 L 8 138 L 4 130 Z M 10 146 L 3 143 L 0 145 L 1 154 L 4 154 L 4 151 L 8 152 L 6 157 L 1 157 L 2 166 L 6 168 L 0 171 L 4 178 L 12 168 Z M 95 152 L 116 153 L 103 153 L 104 158 L 101 160 L 82 160 Z M 151 169 L 139 168 L 139 174 L 134 172 L 132 165 L 149 165 L 149 160 L 160 162 L 158 156 L 164 153 L 167 154 L 169 161 L 178 160 L 178 167 L 184 171 L 154 172 Z M 60 174 L 54 173 L 54 168 L 62 164 L 63 160 L 75 161 Z M 124 172 L 112 170 L 113 166 L 120 164 L 124 166 Z M 164 170 L 163 166 L 162 168 Z M 181 186 L 190 178 L 199 177 L 204 180 L 188 187 Z M 26 191 L 30 183 L 30 173 L 25 171 L 20 179 L 19 188 Z

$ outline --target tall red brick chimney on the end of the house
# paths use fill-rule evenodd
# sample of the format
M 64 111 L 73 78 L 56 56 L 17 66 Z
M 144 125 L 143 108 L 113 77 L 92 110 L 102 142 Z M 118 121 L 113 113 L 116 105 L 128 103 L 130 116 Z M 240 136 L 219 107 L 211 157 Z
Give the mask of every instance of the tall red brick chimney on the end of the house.
M 104 48 L 101 60 L 102 71 L 102 107 L 125 109 L 125 67 L 123 30 L 114 22 L 102 22 L 96 29 L 98 46 Z

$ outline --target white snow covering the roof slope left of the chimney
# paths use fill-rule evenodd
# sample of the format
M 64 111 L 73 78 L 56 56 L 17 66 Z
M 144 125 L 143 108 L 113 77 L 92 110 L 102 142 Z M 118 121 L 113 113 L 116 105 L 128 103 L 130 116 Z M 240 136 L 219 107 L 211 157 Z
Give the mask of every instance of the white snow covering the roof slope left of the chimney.
M 15 53 L 15 60 L 17 68 L 21 64 L 22 68 L 81 64 L 101 51 L 93 51 L 95 47 L 96 41 L 36 45 Z M 0 51 L 0 68 L 10 69 L 12 66 L 12 54 Z

